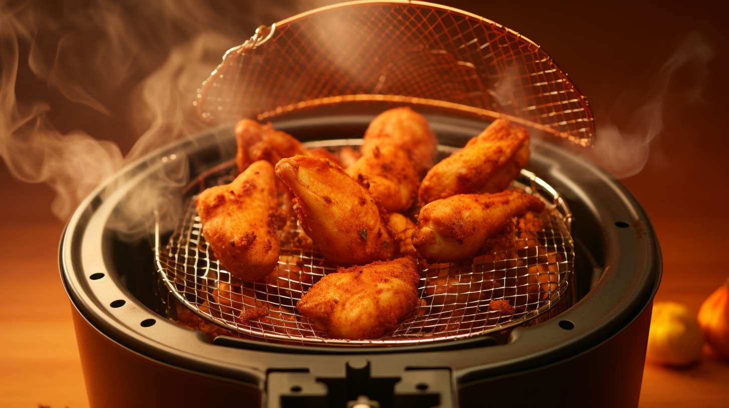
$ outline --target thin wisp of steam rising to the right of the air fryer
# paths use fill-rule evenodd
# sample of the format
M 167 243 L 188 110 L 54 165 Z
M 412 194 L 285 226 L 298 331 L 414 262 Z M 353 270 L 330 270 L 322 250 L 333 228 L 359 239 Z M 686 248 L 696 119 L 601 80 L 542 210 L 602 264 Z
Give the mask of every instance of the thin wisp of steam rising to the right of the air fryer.
M 636 106 L 637 98 L 628 93 L 618 98 L 616 105 L 623 109 L 626 106 L 634 107 L 633 113 L 623 129 L 609 120 L 598 127 L 596 144 L 593 152 L 590 152 L 593 160 L 616 178 L 639 173 L 648 162 L 651 142 L 663 131 L 666 102 L 669 96 L 674 96 L 671 95 L 674 78 L 687 71 L 692 74 L 696 83 L 685 95 L 679 96 L 685 103 L 695 103 L 701 98 L 703 79 L 713 56 L 712 48 L 701 36 L 687 36 L 655 75 L 643 103 Z

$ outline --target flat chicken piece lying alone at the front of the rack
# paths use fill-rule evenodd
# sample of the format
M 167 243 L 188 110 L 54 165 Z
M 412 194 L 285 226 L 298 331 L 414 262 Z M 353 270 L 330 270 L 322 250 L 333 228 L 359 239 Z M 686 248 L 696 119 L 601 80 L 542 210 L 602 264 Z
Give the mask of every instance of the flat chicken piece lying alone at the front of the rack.
M 340 267 L 314 284 L 296 308 L 330 337 L 374 339 L 416 310 L 418 279 L 409 257 Z

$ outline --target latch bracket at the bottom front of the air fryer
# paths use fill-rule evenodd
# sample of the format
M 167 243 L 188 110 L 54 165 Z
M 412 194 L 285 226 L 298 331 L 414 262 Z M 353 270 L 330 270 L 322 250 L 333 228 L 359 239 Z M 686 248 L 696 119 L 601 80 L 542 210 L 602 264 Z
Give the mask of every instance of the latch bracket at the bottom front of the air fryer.
M 314 372 L 268 373 L 268 408 L 453 408 L 451 370 L 405 369 L 396 375 L 373 376 L 370 362 L 347 361 L 343 376 Z

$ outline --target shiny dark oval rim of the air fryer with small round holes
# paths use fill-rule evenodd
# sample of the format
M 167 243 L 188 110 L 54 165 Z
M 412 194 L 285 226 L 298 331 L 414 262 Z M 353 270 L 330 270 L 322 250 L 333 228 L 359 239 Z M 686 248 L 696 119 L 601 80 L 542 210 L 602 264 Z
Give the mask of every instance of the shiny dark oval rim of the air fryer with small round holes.
M 319 134 L 319 130 L 327 127 L 363 128 L 372 117 L 341 115 L 325 120 L 310 117 L 284 120 L 275 125 L 299 136 Z M 484 122 L 472 119 L 435 116 L 429 119 L 439 136 L 456 134 L 460 138 L 469 137 L 484 126 Z M 313 364 L 312 354 L 318 354 L 321 363 L 326 364 L 328 357 L 342 354 L 376 356 L 387 353 L 393 364 L 407 366 L 411 353 L 429 352 L 429 364 L 451 366 L 463 376 L 476 371 L 480 374 L 513 372 L 559 361 L 604 342 L 628 326 L 650 305 L 658 289 L 662 266 L 660 247 L 641 205 L 603 170 L 563 147 L 537 140 L 534 141 L 533 155 L 537 176 L 545 178 L 560 189 L 564 197 L 572 200 L 570 207 L 573 213 L 574 203 L 578 203 L 586 209 L 585 214 L 590 213 L 601 227 L 596 235 L 598 238 L 590 238 L 588 243 L 580 242 L 580 227 L 573 231 L 577 246 L 601 247 L 604 270 L 588 294 L 558 318 L 538 326 L 514 329 L 509 342 L 498 347 L 491 347 L 494 341 L 488 337 L 433 345 L 357 350 L 277 345 L 220 337 L 216 344 L 205 342 L 199 333 L 183 329 L 157 315 L 125 288 L 109 254 L 114 237 L 106 229 L 106 222 L 114 206 L 133 194 L 139 181 L 160 171 L 165 163 L 174 160 L 171 157 L 176 157 L 176 154 L 187 154 L 193 173 L 195 166 L 211 166 L 216 164 L 216 160 L 228 160 L 235 149 L 231 129 L 222 127 L 196 138 L 178 141 L 130 163 L 79 205 L 63 232 L 59 249 L 61 278 L 72 304 L 104 336 L 147 358 L 195 372 L 249 382 L 260 381 L 260 374 L 254 372 L 256 367 L 308 366 Z M 311 136 L 303 138 L 307 137 Z M 445 142 L 448 144 L 448 141 Z M 206 159 L 196 162 L 195 157 L 206 154 Z M 575 225 L 580 225 L 579 213 Z M 124 302 L 122 307 L 115 306 L 121 303 L 117 301 Z M 190 347 L 191 344 L 195 347 Z M 480 352 L 463 353 L 464 348 L 480 348 Z M 286 353 L 286 359 L 270 358 L 271 353 Z

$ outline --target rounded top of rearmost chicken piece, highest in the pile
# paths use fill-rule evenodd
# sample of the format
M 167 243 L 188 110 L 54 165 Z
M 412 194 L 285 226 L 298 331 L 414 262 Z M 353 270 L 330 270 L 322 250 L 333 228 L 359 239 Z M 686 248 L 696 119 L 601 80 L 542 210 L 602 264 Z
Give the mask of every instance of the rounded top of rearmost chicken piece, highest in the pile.
M 405 152 L 417 174 L 433 166 L 437 141 L 428 121 L 408 107 L 394 108 L 378 114 L 364 132 L 362 155 L 375 147 L 391 144 Z

